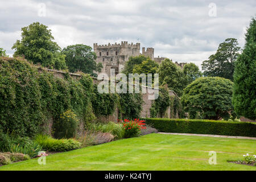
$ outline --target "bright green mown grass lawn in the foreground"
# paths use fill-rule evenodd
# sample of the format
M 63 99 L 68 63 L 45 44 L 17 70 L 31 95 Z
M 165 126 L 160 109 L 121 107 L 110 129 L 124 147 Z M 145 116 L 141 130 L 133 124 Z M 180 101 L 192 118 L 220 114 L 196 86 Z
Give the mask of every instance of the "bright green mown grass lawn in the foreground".
M 210 165 L 209 151 L 217 152 Z M 228 163 L 256 154 L 256 140 L 149 134 L 53 154 L 46 165 L 38 159 L 9 164 L 0 170 L 256 170 Z

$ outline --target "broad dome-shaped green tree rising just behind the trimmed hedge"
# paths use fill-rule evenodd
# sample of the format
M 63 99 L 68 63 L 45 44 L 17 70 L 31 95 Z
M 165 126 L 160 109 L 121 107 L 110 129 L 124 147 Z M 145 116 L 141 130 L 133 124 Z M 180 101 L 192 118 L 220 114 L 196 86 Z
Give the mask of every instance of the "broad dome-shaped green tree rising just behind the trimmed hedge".
M 221 77 L 200 77 L 184 89 L 181 103 L 189 117 L 228 118 L 232 106 L 233 82 Z

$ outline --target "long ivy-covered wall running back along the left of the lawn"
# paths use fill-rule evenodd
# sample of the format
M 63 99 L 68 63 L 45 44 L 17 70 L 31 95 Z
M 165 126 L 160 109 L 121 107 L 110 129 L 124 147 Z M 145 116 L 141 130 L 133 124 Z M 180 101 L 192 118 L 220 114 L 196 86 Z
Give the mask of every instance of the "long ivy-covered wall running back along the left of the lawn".
M 160 90 L 159 102 L 148 100 L 148 93 L 99 94 L 98 82 L 84 73 L 39 68 L 20 57 L 0 57 L 0 132 L 29 137 L 52 134 L 53 123 L 67 110 L 79 118 L 80 130 L 95 120 L 150 117 L 153 107 L 156 115 L 166 117 L 165 90 Z

